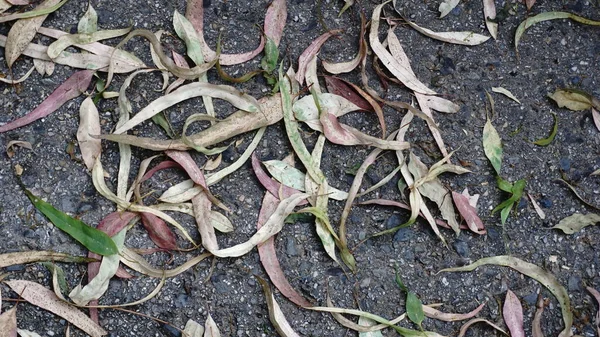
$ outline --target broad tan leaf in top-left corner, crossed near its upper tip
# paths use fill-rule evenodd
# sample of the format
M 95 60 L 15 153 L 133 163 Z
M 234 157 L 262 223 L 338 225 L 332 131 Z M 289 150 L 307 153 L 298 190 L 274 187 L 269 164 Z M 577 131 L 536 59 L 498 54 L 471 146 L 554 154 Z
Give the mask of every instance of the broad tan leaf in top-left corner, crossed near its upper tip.
M 60 0 L 46 0 L 37 6 L 35 9 L 49 8 Z M 13 63 L 21 56 L 29 42 L 37 33 L 38 28 L 44 23 L 48 14 L 40 15 L 29 19 L 21 19 L 13 24 L 6 38 L 6 46 L 4 47 L 4 57 L 9 68 L 12 68 Z

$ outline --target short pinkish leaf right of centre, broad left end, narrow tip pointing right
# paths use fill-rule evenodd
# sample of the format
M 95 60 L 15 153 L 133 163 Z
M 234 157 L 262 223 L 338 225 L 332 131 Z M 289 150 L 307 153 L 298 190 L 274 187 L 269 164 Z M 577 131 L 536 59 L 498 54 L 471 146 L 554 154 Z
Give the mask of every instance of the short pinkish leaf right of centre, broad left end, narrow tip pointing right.
M 346 146 L 368 145 L 382 150 L 406 150 L 410 148 L 408 142 L 379 139 L 342 124 L 332 113 L 322 113 L 319 120 L 323 127 L 323 133 L 334 144 Z

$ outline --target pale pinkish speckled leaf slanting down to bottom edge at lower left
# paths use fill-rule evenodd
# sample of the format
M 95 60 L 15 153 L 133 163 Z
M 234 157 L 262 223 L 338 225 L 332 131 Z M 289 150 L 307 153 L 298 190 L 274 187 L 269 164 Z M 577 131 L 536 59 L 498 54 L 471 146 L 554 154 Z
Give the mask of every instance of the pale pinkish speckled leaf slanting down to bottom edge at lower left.
M 108 334 L 83 312 L 64 303 L 56 297 L 52 290 L 41 284 L 24 280 L 12 280 L 5 283 L 27 302 L 64 318 L 92 337 L 101 337 Z

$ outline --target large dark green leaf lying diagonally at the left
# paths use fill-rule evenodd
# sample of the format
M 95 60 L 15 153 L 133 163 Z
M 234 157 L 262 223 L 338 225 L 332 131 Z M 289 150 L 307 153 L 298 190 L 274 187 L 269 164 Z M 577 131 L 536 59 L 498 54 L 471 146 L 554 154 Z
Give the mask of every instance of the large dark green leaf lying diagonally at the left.
M 99 255 L 113 255 L 119 253 L 114 241 L 106 235 L 106 233 L 97 230 L 94 227 L 90 227 L 81 220 L 74 219 L 57 210 L 28 190 L 24 189 L 24 191 L 38 211 L 42 212 L 56 227 L 79 241 L 90 252 Z

